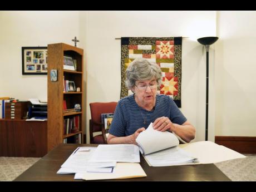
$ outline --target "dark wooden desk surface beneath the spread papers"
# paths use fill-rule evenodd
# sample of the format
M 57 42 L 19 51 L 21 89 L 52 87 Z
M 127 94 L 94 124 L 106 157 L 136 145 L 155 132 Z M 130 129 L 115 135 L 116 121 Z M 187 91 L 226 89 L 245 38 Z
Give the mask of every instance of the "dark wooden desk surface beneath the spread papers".
M 97 145 L 60 144 L 14 181 L 82 181 L 75 180 L 75 174 L 56 174 L 78 146 Z M 150 167 L 144 157 L 140 156 L 140 161 L 146 178 L 109 181 L 230 181 L 214 164 Z

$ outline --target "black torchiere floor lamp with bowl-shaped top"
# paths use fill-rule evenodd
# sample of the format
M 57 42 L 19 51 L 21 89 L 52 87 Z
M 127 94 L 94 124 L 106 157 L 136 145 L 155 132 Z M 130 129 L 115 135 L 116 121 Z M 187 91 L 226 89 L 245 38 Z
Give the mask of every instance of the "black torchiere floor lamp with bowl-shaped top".
M 206 50 L 206 118 L 205 118 L 205 141 L 208 141 L 208 87 L 209 87 L 209 47 L 215 43 L 218 37 L 202 37 L 198 42 L 205 46 Z

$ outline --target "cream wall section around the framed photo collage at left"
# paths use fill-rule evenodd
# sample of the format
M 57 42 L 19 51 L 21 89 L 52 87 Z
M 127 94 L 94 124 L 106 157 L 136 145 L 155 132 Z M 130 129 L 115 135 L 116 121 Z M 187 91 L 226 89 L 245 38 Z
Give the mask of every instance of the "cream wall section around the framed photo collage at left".
M 72 44 L 78 21 L 78 11 L 1 11 L 0 97 L 47 101 L 47 75 L 22 75 L 21 47 Z

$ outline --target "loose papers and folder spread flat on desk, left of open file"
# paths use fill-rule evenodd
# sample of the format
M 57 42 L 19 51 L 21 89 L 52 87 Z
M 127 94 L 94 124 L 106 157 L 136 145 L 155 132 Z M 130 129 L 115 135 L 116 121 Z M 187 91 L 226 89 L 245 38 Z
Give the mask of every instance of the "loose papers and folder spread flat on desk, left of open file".
M 123 162 L 123 163 L 117 163 Z M 75 179 L 126 179 L 146 176 L 136 145 L 78 147 L 57 174 L 75 173 Z

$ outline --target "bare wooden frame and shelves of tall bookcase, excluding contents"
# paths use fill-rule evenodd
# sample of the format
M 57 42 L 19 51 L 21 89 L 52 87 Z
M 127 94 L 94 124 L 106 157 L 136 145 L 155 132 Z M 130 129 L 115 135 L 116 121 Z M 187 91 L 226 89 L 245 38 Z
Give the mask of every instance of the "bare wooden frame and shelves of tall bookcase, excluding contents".
M 64 70 L 64 56 L 70 56 L 77 61 L 76 71 Z M 51 81 L 51 70 L 57 70 L 57 81 Z M 48 151 L 52 150 L 63 140 L 72 140 L 80 134 L 81 143 L 83 143 L 82 126 L 83 117 L 83 50 L 78 47 L 67 45 L 65 43 L 56 43 L 48 45 L 48 132 L 47 142 Z M 64 92 L 64 80 L 74 81 L 76 87 L 80 87 L 80 92 Z M 81 112 L 64 112 L 63 101 L 66 101 L 67 109 L 73 109 L 75 104 L 81 105 Z M 65 119 L 78 116 L 79 131 L 66 134 Z M 72 141 L 68 141 L 68 143 Z

